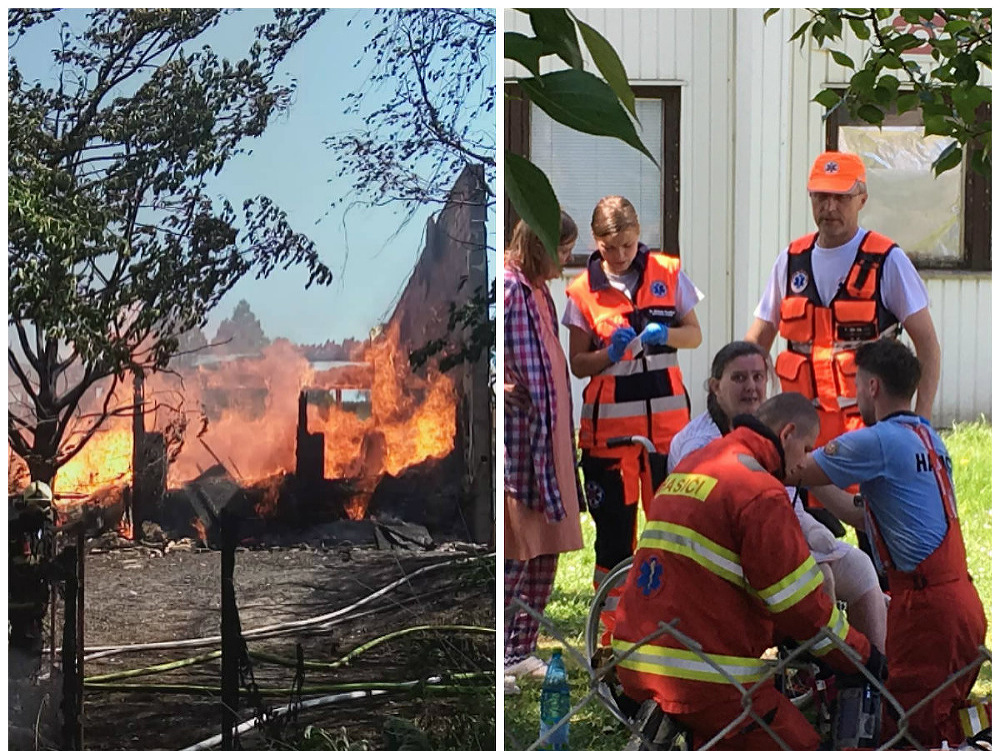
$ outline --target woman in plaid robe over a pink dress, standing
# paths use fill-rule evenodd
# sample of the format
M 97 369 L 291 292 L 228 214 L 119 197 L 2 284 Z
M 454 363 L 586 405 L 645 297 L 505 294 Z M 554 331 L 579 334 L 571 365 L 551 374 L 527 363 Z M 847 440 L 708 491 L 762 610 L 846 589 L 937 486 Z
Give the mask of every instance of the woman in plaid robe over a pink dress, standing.
M 548 290 L 576 236 L 564 212 L 555 263 L 518 222 L 504 252 L 505 693 L 516 691 L 514 677 L 542 677 L 546 667 L 532 655 L 537 620 L 508 606 L 516 598 L 542 613 L 559 553 L 583 547 L 569 368 Z

